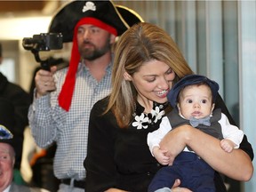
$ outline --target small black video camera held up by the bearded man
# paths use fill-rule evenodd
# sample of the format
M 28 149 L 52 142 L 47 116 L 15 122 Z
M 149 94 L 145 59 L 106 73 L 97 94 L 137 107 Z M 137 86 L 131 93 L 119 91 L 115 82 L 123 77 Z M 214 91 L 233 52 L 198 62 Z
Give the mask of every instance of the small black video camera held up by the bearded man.
M 63 36 L 61 33 L 41 33 L 34 35 L 32 38 L 24 37 L 22 46 L 24 49 L 33 52 L 37 62 L 41 63 L 44 70 L 50 71 L 50 64 L 48 60 L 41 60 L 39 52 L 60 50 L 62 49 Z

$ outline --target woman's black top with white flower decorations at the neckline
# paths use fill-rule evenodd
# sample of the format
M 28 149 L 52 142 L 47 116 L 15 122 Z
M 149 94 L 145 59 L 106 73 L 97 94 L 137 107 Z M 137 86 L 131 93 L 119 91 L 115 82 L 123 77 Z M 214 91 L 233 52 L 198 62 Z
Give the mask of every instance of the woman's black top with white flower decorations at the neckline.
M 87 157 L 84 160 L 86 170 L 85 191 L 102 192 L 108 188 L 119 188 L 132 192 L 147 192 L 148 184 L 162 167 L 148 149 L 148 132 L 159 128 L 166 106 L 154 104 L 153 113 L 144 114 L 144 108 L 136 104 L 134 121 L 127 129 L 116 124 L 111 111 L 102 116 L 108 98 L 98 101 L 92 108 Z M 228 116 L 230 124 L 234 124 L 223 100 L 216 100 L 216 108 Z M 246 136 L 240 148 L 251 158 L 253 151 Z M 215 174 L 216 191 L 227 191 L 220 174 Z

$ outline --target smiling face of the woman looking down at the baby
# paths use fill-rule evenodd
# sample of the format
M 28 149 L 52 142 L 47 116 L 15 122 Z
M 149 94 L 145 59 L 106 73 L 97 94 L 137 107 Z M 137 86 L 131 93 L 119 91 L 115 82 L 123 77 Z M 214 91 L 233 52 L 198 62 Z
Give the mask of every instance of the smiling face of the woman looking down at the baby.
M 139 101 L 164 103 L 167 101 L 166 95 L 172 88 L 174 77 L 175 73 L 167 64 L 159 60 L 150 60 L 128 80 L 135 86 Z

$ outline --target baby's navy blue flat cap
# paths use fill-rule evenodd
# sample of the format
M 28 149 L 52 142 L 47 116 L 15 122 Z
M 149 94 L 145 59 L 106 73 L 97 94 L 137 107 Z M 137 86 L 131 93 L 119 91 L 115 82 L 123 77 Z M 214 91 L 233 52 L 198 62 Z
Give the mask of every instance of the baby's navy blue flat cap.
M 174 84 L 171 91 L 168 92 L 167 94 L 167 99 L 171 103 L 172 108 L 176 107 L 177 99 L 181 89 L 183 89 L 188 85 L 202 84 L 202 83 L 209 85 L 212 91 L 212 101 L 215 102 L 218 91 L 219 91 L 219 84 L 207 78 L 206 76 L 188 75 L 181 78 L 177 84 Z

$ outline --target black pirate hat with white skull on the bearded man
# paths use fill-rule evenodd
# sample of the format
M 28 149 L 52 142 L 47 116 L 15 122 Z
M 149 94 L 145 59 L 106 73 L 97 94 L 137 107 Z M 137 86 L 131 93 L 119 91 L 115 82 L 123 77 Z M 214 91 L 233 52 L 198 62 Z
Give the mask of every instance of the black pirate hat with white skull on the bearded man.
M 85 17 L 100 20 L 116 28 L 117 36 L 129 28 L 111 1 L 72 1 L 60 7 L 53 16 L 49 32 L 61 33 L 64 43 L 72 42 L 76 23 Z

